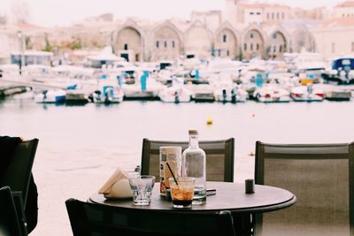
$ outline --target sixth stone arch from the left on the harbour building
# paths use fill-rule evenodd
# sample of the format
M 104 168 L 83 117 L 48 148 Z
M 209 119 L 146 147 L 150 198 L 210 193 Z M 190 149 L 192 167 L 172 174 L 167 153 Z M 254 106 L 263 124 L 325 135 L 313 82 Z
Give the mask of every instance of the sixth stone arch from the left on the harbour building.
M 267 56 L 270 59 L 281 60 L 283 58 L 283 53 L 287 51 L 287 41 L 284 34 L 280 31 L 275 31 L 271 34 L 268 44 L 268 49 L 266 50 Z

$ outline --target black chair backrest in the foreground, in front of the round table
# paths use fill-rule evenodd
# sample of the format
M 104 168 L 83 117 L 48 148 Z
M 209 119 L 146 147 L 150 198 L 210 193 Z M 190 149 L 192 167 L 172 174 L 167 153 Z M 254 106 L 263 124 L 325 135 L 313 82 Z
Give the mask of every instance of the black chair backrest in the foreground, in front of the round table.
M 65 205 L 73 236 L 235 235 L 229 211 L 216 214 L 187 210 L 124 209 L 75 199 L 66 200 Z

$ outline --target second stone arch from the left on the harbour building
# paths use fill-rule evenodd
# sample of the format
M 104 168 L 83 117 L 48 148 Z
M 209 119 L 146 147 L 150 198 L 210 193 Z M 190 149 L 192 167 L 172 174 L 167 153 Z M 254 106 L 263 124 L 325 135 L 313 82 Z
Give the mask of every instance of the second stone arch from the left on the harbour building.
M 154 34 L 152 59 L 174 60 L 181 54 L 181 40 L 172 27 L 161 27 Z

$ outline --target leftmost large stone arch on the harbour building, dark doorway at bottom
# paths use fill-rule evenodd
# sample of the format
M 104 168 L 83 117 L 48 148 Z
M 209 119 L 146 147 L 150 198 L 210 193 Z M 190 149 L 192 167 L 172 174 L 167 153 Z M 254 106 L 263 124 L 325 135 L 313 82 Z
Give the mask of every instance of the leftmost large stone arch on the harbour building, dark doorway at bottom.
M 126 52 L 129 61 L 142 61 L 142 35 L 134 27 L 124 27 L 117 34 L 114 49 Z

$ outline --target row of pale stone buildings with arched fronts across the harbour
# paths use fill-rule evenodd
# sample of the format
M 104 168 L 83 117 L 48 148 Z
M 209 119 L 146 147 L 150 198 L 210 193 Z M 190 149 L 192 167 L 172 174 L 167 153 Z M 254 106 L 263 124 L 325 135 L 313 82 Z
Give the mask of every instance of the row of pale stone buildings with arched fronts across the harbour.
M 117 21 L 107 14 L 72 27 L 28 33 L 29 42 L 33 49 L 49 44 L 61 51 L 112 45 L 117 55 L 132 62 L 174 60 L 187 55 L 277 60 L 284 52 L 306 49 L 332 56 L 352 52 L 354 47 L 350 26 L 354 1 L 338 4 L 332 10 L 225 1 L 225 11 L 193 12 L 190 20 Z

